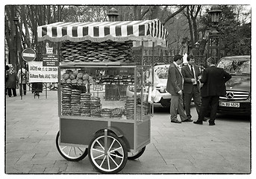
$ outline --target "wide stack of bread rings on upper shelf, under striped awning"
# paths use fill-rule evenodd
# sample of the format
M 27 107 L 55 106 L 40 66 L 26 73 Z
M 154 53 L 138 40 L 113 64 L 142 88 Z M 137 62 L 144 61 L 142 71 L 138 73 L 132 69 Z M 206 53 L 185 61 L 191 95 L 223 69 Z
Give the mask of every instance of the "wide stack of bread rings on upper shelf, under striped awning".
M 101 43 L 90 40 L 83 42 L 66 41 L 62 44 L 60 52 L 63 63 L 133 63 L 132 46 L 131 40 L 125 42 L 107 40 Z

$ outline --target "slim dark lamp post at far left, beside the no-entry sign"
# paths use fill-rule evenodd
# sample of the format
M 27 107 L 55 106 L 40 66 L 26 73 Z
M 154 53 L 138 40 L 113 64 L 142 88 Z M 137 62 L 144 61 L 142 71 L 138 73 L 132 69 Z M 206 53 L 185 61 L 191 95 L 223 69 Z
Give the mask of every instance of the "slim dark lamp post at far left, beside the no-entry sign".
M 19 23 L 19 17 L 15 16 L 13 18 L 13 22 L 14 22 L 14 25 L 15 25 L 15 53 L 16 53 L 16 62 L 18 62 L 18 60 L 19 60 L 19 54 L 18 54 L 18 23 Z M 22 60 L 19 60 L 19 65 L 20 65 L 20 80 L 21 80 L 21 85 L 19 85 L 19 92 L 20 92 L 20 97 L 22 99 Z

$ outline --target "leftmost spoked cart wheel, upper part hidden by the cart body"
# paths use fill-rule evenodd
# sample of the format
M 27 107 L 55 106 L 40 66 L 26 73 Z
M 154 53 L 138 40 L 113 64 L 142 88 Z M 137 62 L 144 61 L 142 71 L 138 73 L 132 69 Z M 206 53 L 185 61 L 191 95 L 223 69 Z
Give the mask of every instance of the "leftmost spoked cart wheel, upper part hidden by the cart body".
M 61 156 L 69 161 L 83 160 L 87 156 L 87 148 L 60 145 L 60 131 L 57 132 L 56 146 Z

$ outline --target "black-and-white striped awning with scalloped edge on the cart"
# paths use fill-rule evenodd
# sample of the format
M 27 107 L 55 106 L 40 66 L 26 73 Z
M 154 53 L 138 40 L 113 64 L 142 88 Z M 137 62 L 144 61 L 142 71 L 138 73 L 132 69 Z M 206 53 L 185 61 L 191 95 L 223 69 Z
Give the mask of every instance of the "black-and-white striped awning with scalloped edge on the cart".
M 168 32 L 158 19 L 120 22 L 56 22 L 37 28 L 38 41 L 62 42 L 69 40 L 81 42 L 90 40 L 147 41 L 166 44 Z

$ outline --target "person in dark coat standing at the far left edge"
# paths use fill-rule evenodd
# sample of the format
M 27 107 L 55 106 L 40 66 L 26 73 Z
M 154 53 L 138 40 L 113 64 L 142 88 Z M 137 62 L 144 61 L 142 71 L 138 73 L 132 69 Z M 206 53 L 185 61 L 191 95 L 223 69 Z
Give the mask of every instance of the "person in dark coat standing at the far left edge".
M 18 78 L 16 75 L 16 72 L 13 68 L 13 66 L 10 66 L 10 69 L 7 70 L 7 81 L 6 81 L 6 88 L 7 88 L 7 93 L 9 97 L 12 95 L 13 91 L 13 96 L 16 96 L 16 85 L 18 83 Z

